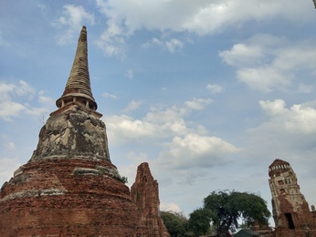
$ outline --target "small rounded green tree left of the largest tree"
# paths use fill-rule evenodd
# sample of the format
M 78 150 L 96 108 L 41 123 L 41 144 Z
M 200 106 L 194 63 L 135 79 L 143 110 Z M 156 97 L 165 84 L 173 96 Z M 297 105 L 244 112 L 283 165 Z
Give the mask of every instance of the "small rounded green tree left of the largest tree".
M 199 208 L 190 214 L 189 229 L 194 236 L 210 232 L 211 212 L 205 208 Z

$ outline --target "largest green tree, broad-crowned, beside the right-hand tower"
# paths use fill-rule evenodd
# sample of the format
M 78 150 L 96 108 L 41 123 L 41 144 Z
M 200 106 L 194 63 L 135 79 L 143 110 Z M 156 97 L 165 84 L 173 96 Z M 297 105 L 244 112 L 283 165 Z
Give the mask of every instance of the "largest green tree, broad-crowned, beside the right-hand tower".
M 238 191 L 213 191 L 204 200 L 204 208 L 211 212 L 219 236 L 226 236 L 229 229 L 238 228 L 238 220 L 251 228 L 255 221 L 268 225 L 271 213 L 267 202 L 254 193 Z

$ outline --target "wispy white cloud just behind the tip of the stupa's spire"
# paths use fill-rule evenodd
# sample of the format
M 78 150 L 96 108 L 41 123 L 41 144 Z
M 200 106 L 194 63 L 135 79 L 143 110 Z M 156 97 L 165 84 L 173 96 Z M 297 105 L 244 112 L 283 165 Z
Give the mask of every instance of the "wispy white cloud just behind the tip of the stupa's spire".
M 82 5 L 64 5 L 62 15 L 53 26 L 66 27 L 66 31 L 58 36 L 58 44 L 65 45 L 72 41 L 79 29 L 85 25 L 94 25 L 94 15 L 86 11 Z

